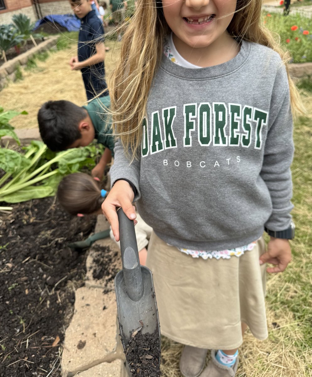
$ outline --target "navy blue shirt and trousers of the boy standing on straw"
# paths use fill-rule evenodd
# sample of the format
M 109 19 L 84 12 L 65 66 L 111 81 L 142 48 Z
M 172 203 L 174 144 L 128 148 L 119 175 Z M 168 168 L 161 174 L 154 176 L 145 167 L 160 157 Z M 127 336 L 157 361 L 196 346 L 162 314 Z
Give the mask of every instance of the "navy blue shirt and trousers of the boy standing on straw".
M 104 42 L 104 29 L 95 11 L 81 18 L 78 37 L 78 61 L 83 61 L 96 53 L 95 45 Z M 81 68 L 87 97 L 93 97 L 106 89 L 104 61 Z M 88 93 L 89 92 L 89 93 Z M 92 93 L 91 93 L 92 92 Z

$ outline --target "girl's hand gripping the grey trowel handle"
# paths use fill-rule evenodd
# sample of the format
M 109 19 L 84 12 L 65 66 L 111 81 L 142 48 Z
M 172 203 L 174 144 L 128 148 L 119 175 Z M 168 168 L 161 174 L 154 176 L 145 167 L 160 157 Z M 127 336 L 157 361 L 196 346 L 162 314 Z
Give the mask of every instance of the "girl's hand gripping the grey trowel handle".
M 107 198 L 102 204 L 102 211 L 112 227 L 115 240 L 119 241 L 119 222 L 116 207 L 121 207 L 130 220 L 136 218 L 135 207 L 132 205 L 134 192 L 130 184 L 123 179 L 116 181 Z

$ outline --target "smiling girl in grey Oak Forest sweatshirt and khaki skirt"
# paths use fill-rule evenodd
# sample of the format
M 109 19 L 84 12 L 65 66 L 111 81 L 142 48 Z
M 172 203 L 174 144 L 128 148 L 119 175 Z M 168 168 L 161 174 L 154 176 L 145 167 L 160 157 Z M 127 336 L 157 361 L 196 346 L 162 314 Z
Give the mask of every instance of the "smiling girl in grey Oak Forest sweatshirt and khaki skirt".
M 116 207 L 135 219 L 133 199 L 153 228 L 161 331 L 185 345 L 188 377 L 235 375 L 246 326 L 268 336 L 265 263 L 279 272 L 291 260 L 290 104 L 300 103 L 261 8 L 139 0 L 112 76 L 119 141 L 102 209 L 116 240 Z

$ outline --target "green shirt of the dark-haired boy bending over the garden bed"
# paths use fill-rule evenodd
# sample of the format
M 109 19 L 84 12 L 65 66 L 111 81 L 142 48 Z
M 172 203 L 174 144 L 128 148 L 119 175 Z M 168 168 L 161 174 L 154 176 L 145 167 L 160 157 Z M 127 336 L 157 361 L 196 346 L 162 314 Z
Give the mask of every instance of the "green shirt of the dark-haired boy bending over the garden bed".
M 112 123 L 107 116 L 106 107 L 110 106 L 110 97 L 109 95 L 98 97 L 92 100 L 83 106 L 87 110 L 94 130 L 95 130 L 95 139 L 98 143 L 104 145 L 104 147 L 109 148 L 112 151 L 112 156 L 114 155 L 114 138 L 112 135 Z

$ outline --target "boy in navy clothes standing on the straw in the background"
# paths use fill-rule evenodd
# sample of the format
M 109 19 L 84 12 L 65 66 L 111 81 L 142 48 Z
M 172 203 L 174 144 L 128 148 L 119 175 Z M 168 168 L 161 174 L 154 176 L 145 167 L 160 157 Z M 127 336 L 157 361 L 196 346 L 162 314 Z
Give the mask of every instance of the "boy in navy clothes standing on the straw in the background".
M 80 18 L 78 55 L 70 59 L 72 70 L 81 70 L 87 99 L 91 100 L 107 88 L 105 81 L 105 45 L 102 21 L 91 8 L 90 0 L 70 0 L 75 15 Z M 103 95 L 107 95 L 104 92 Z

